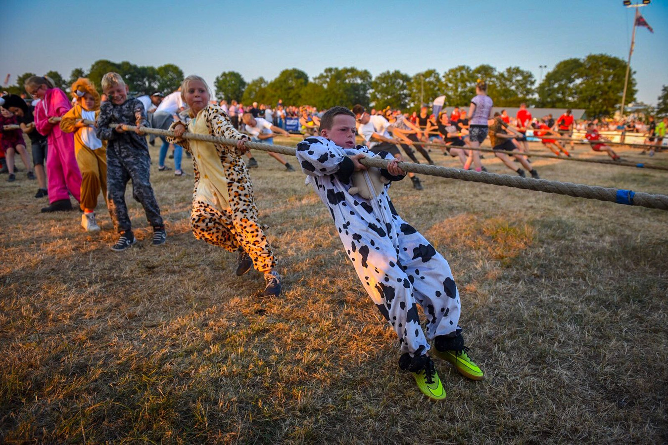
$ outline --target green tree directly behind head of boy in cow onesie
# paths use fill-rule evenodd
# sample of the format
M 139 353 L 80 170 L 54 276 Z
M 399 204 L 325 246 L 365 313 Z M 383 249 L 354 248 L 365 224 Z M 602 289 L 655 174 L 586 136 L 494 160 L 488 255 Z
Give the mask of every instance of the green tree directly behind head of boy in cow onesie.
M 355 67 L 329 67 L 313 79 L 323 87 L 319 107 L 329 108 L 335 105 L 352 107 L 356 103 L 369 106 L 371 73 Z M 315 104 L 314 104 L 315 105 Z

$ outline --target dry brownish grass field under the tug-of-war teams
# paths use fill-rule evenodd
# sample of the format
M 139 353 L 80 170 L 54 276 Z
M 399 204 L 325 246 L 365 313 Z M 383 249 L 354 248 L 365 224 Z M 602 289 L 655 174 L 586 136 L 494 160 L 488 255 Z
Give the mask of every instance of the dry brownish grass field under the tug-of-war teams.
M 668 153 L 637 153 L 621 150 L 668 166 Z M 90 235 L 77 211 L 39 213 L 25 169 L 0 177 L 0 442 L 668 442 L 667 211 L 426 176 L 424 191 L 393 185 L 399 213 L 450 261 L 486 372 L 472 382 L 437 361 L 448 398 L 432 403 L 399 371 L 394 334 L 304 175 L 255 156 L 283 274 L 273 300 L 260 274 L 237 278 L 235 256 L 192 236 L 186 157 L 189 177 L 153 166 L 167 244 L 150 246 L 128 187 L 140 242 L 122 253 L 104 207 Z M 534 165 L 545 179 L 668 193 L 665 171 Z

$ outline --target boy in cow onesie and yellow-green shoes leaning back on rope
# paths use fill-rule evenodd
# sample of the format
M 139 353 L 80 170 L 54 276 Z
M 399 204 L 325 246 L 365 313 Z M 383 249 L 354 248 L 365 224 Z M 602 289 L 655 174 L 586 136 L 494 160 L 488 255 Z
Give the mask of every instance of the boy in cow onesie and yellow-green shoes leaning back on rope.
M 464 346 L 460 296 L 448 262 L 397 214 L 387 189 L 403 179 L 394 157 L 385 151 L 387 169 L 365 167 L 359 159 L 373 156 L 355 146 L 355 115 L 333 107 L 320 125 L 321 137 L 297 145 L 301 169 L 329 207 L 343 246 L 365 290 L 399 337 L 399 367 L 413 374 L 418 388 L 433 400 L 446 392 L 428 354 L 447 360 L 460 374 L 481 380 L 483 373 Z M 417 304 L 428 318 L 420 327 Z

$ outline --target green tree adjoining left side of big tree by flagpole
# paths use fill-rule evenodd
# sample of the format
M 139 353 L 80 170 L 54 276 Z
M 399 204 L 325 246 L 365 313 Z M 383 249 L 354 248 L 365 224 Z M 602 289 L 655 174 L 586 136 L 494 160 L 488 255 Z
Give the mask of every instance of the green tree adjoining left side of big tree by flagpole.
M 547 73 L 538 85 L 538 105 L 540 107 L 574 108 L 578 101 L 578 87 L 582 61 L 562 60 Z

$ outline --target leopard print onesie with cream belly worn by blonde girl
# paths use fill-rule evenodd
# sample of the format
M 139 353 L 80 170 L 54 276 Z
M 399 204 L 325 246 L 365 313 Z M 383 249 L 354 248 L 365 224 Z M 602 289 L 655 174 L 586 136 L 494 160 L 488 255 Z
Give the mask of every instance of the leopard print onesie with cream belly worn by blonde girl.
M 172 123 L 174 130 L 178 122 Z M 188 132 L 244 139 L 218 105 L 208 105 L 188 123 Z M 242 248 L 259 272 L 276 266 L 271 246 L 258 224 L 253 183 L 234 145 L 167 138 L 192 153 L 195 175 L 190 226 L 198 240 L 230 252 Z

